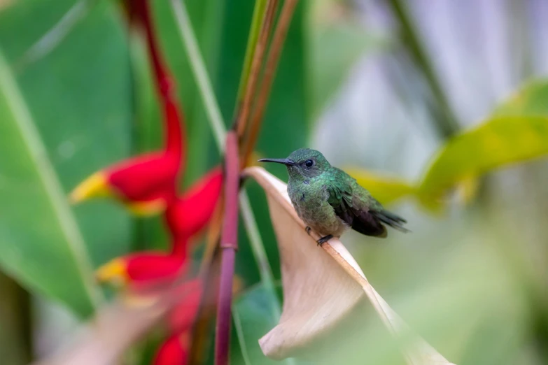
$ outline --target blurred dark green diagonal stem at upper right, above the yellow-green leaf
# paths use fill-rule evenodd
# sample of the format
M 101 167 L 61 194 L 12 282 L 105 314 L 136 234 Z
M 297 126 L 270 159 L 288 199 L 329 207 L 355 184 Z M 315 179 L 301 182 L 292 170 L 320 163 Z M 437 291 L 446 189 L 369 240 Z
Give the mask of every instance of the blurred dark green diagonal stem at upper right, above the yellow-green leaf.
M 388 0 L 388 5 L 391 7 L 393 15 L 400 23 L 402 41 L 407 45 L 407 50 L 412 56 L 412 59 L 414 59 L 414 63 L 422 71 L 424 78 L 426 78 L 432 96 L 437 101 L 437 108 L 440 108 L 437 112 L 440 114 L 440 117 L 435 118 L 437 121 L 435 124 L 437 131 L 442 137 L 449 138 L 459 129 L 458 120 L 449 105 L 442 83 L 440 83 L 433 65 L 430 62 L 430 59 L 428 59 L 426 50 L 421 43 L 419 32 L 416 30 L 416 27 L 407 12 L 405 3 L 401 0 Z

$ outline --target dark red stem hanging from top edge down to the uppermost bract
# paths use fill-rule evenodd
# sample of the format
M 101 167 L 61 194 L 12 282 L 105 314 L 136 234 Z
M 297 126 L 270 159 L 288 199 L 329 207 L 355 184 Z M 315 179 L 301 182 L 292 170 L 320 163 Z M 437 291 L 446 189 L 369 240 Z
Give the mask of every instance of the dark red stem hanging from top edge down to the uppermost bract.
M 178 164 L 180 164 L 181 161 L 185 161 L 185 150 L 182 143 L 184 133 L 182 127 L 183 117 L 174 100 L 174 83 L 157 45 L 148 0 L 127 1 L 129 1 L 131 9 L 130 14 L 141 23 L 146 34 L 148 55 L 153 64 L 157 92 L 164 109 L 165 149 L 169 155 L 178 159 Z M 184 169 L 184 166 L 181 166 L 181 169 Z

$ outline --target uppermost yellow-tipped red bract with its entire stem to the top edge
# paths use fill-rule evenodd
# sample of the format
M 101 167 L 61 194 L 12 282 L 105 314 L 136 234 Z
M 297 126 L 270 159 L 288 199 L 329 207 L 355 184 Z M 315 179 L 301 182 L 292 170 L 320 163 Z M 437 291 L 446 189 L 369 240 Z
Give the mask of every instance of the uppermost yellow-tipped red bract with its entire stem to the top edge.
M 148 54 L 153 65 L 160 104 L 164 114 L 164 150 L 133 157 L 92 174 L 71 193 L 78 203 L 98 196 L 110 196 L 138 215 L 162 212 L 175 199 L 178 172 L 185 161 L 181 113 L 174 101 L 173 87 L 158 52 L 146 0 L 126 1 L 132 24 L 146 33 Z

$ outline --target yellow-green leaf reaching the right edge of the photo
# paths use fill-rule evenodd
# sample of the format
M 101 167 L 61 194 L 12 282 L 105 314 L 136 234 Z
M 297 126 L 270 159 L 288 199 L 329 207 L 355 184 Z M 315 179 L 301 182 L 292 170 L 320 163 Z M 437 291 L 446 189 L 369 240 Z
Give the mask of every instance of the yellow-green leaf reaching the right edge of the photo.
M 528 85 L 486 122 L 449 139 L 418 188 L 421 202 L 435 208 L 444 191 L 463 180 L 546 155 L 547 104 L 548 84 Z

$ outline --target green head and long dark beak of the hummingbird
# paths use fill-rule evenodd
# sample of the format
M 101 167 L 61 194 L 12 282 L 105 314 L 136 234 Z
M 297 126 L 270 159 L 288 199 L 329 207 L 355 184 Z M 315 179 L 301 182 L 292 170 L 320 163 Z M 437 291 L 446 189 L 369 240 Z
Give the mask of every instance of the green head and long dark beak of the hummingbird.
M 293 151 L 286 159 L 260 159 L 259 162 L 284 164 L 288 168 L 289 177 L 296 180 L 315 178 L 331 167 L 321 152 L 310 148 Z

